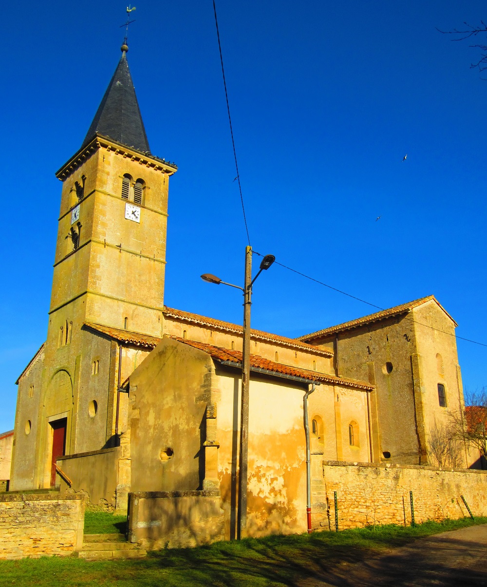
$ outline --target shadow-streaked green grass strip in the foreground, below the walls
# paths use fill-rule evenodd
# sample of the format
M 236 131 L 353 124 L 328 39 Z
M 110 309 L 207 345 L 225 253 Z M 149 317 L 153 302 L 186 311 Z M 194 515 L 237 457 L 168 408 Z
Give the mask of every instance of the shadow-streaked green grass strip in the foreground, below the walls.
M 199 548 L 152 552 L 136 561 L 88 562 L 75 558 L 0 561 L 0 587 L 174 587 L 295 586 L 311 576 L 326 580 L 327 569 L 363 561 L 386 548 L 429 536 L 487 524 L 487 518 L 425 522 L 414 528 L 378 526 L 311 535 L 271 536 L 241 542 L 217 542 Z

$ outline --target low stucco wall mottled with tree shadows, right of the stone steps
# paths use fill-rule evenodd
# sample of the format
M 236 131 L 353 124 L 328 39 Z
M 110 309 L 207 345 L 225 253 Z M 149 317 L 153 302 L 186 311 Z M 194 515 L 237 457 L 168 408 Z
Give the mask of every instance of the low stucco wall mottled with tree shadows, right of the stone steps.
M 187 548 L 225 539 L 220 492 L 147 491 L 129 494 L 128 541 L 145 549 Z

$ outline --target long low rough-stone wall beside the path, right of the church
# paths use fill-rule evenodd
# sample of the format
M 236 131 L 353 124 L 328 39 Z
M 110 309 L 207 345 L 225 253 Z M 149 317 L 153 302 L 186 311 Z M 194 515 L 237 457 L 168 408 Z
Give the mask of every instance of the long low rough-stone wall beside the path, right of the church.
M 410 525 L 410 491 L 417 523 L 468 517 L 461 495 L 474 516 L 487 516 L 487 471 L 323 461 L 323 480 L 321 503 L 312 513 L 321 529 L 335 529 L 334 491 L 339 529 Z

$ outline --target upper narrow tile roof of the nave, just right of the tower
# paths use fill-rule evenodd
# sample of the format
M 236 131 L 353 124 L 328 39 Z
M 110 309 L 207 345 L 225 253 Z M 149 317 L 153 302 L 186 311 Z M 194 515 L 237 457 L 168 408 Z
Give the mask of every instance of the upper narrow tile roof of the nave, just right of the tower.
M 213 328 L 218 328 L 220 330 L 225 330 L 226 332 L 236 332 L 238 334 L 243 333 L 242 326 L 238 324 L 232 324 L 231 322 L 224 322 L 222 320 L 216 320 L 214 318 L 207 318 L 207 316 L 199 316 L 198 314 L 184 312 L 182 310 L 176 310 L 174 308 L 167 308 L 166 306 L 164 307 L 163 313 L 165 316 L 171 316 L 171 318 L 178 318 L 186 322 L 201 324 L 202 326 L 210 326 Z M 271 334 L 269 332 L 262 332 L 262 330 L 252 329 L 251 338 L 253 340 L 265 340 L 267 342 L 273 342 L 279 345 L 304 350 L 313 353 L 314 355 L 322 355 L 325 357 L 333 356 L 333 352 L 331 350 L 323 349 L 318 346 L 309 345 L 305 342 L 301 342 L 300 340 L 296 340 L 293 338 L 286 338 L 286 336 L 279 336 L 276 334 Z

